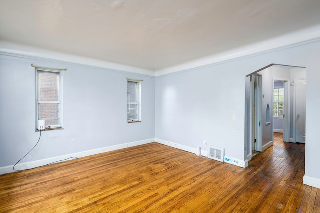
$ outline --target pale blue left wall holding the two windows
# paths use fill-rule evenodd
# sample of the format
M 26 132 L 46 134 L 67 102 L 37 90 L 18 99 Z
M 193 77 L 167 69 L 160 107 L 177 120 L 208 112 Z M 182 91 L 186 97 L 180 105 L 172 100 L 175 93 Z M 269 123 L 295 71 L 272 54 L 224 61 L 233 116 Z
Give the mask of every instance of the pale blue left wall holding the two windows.
M 154 77 L 35 58 L 0 55 L 0 167 L 15 164 L 37 142 L 35 69 L 63 72 L 63 130 L 42 131 L 21 162 L 154 138 Z M 142 122 L 127 123 L 127 79 L 142 79 Z

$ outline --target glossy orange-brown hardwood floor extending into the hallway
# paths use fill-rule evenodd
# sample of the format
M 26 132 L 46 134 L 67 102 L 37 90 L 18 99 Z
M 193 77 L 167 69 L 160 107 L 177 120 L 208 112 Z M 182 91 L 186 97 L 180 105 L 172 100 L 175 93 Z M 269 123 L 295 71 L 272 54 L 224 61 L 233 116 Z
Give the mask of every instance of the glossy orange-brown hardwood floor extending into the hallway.
M 247 168 L 150 143 L 1 175 L 0 212 L 319 213 L 305 145 L 274 140 Z

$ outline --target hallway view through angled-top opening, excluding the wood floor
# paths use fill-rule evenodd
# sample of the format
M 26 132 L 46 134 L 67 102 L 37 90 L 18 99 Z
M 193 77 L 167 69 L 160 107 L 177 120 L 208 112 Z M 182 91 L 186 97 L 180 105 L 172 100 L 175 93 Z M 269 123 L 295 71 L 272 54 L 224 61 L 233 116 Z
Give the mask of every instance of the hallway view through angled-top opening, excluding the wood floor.
M 247 159 L 273 146 L 273 132 L 284 142 L 305 143 L 306 68 L 270 64 L 245 79 Z

